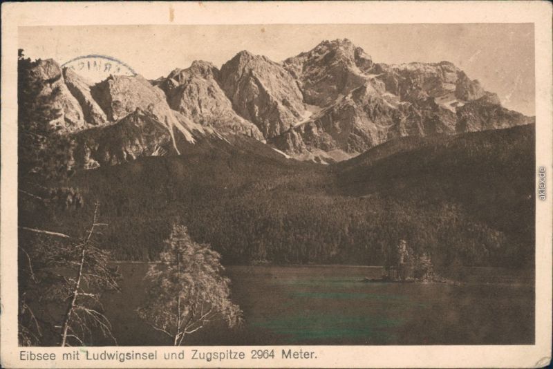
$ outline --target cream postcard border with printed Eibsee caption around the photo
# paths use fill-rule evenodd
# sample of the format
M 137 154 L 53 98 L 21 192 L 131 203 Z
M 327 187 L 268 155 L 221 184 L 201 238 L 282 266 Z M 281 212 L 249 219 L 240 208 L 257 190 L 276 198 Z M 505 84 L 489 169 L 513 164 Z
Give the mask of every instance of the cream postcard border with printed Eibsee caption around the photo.
M 272 2 L 272 3 L 3 3 L 1 69 L 0 357 L 6 368 L 420 368 L 536 367 L 552 337 L 552 5 L 546 1 Z M 17 346 L 17 27 L 100 24 L 534 23 L 536 173 L 547 173 L 547 200 L 536 196 L 536 343 L 532 346 L 262 346 L 316 351 L 317 359 L 270 361 L 19 361 Z M 537 185 L 537 175 L 536 175 Z M 257 346 L 256 346 L 257 348 Z M 25 348 L 62 352 L 71 348 Z M 107 348 L 86 348 L 102 352 Z M 178 348 L 110 350 L 178 352 Z M 187 352 L 192 348 L 185 347 Z M 205 348 L 207 350 L 207 348 Z M 209 350 L 216 347 L 209 346 Z M 227 349 L 221 348 L 223 350 Z M 250 352 L 249 346 L 234 347 Z M 280 356 L 280 355 L 279 355 Z

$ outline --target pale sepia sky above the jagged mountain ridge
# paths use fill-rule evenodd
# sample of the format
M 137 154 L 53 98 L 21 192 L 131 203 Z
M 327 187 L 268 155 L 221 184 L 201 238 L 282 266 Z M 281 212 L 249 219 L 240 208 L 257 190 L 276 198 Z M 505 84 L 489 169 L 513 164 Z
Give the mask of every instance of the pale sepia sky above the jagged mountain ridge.
M 18 43 L 32 59 L 64 64 L 106 55 L 156 79 L 197 59 L 221 67 L 248 50 L 282 61 L 324 39 L 343 38 L 375 62 L 451 61 L 497 93 L 503 106 L 535 114 L 532 23 L 41 26 L 20 27 Z

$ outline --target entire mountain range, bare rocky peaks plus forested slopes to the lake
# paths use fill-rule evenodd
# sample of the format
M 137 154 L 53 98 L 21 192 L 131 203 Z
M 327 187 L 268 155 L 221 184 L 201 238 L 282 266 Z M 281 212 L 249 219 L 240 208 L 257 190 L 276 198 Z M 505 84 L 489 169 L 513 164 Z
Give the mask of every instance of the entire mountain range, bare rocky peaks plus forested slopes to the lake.
M 382 265 L 400 240 L 444 269 L 534 263 L 535 119 L 448 61 L 377 64 L 339 39 L 156 80 L 91 84 L 52 59 L 30 73 L 84 198 L 19 207 L 30 227 L 86 229 L 97 201 L 119 260 L 157 260 L 178 223 L 226 265 Z

